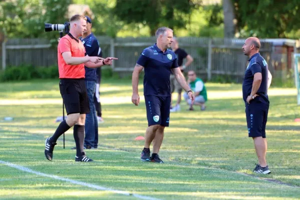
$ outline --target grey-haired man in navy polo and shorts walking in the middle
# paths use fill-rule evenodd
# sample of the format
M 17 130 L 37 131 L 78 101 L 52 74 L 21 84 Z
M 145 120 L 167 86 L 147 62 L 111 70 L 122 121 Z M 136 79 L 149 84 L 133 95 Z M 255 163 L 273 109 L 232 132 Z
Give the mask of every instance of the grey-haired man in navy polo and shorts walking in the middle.
M 132 102 L 135 105 L 140 103 L 138 94 L 139 74 L 145 67 L 144 96 L 148 128 L 141 160 L 163 163 L 158 155 L 158 151 L 164 137 L 164 128 L 169 126 L 170 120 L 171 70 L 192 102 L 194 102 L 195 96 L 178 67 L 176 54 L 168 49 L 173 42 L 173 30 L 167 27 L 160 27 L 157 29 L 155 36 L 157 38 L 156 43 L 143 50 L 134 67 L 132 73 Z M 152 140 L 153 151 L 150 157 Z

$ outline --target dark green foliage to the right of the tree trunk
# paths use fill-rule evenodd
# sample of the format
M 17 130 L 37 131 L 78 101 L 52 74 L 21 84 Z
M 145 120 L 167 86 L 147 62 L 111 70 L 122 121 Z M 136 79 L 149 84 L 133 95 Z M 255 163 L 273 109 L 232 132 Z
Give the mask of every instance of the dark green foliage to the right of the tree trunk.
M 286 37 L 300 28 L 299 0 L 233 0 L 241 36 Z

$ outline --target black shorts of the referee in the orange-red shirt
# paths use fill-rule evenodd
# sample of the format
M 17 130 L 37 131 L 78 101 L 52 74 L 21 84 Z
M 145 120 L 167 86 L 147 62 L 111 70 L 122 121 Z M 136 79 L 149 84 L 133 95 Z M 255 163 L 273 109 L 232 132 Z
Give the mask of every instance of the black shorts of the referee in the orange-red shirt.
M 90 112 L 88 93 L 84 78 L 62 78 L 59 85 L 67 114 L 84 114 Z

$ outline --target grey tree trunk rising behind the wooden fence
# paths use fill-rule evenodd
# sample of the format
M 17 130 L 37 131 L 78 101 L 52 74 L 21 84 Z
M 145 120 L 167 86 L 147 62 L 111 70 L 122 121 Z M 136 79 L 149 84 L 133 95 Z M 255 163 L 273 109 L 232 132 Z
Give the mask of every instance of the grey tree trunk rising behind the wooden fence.
M 223 0 L 224 37 L 232 38 L 235 33 L 234 12 L 232 0 Z

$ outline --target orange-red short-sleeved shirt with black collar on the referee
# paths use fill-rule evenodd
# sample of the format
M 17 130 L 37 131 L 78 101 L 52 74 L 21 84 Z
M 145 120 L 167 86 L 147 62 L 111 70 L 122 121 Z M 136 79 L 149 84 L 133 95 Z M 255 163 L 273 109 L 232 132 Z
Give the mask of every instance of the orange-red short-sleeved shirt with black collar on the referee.
M 57 47 L 58 69 L 60 78 L 84 78 L 84 63 L 77 65 L 67 64 L 62 55 L 63 52 L 71 52 L 72 57 L 84 57 L 86 50 L 80 39 L 76 39 L 71 33 L 63 36 Z

